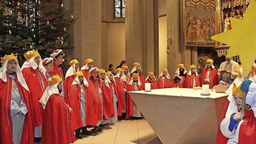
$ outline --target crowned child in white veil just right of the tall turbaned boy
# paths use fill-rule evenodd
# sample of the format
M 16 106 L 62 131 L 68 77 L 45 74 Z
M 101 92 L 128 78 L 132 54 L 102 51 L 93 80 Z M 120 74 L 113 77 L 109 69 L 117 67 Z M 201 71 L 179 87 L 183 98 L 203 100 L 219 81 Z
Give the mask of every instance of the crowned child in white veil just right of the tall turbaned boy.
M 64 89 L 65 89 L 65 100 L 68 103 L 68 94 L 70 91 L 70 87 L 74 81 L 74 73 L 79 71 L 79 62 L 76 59 L 73 59 L 69 62 L 70 68 L 68 69 L 66 75 L 65 75 L 65 81 L 64 81 Z

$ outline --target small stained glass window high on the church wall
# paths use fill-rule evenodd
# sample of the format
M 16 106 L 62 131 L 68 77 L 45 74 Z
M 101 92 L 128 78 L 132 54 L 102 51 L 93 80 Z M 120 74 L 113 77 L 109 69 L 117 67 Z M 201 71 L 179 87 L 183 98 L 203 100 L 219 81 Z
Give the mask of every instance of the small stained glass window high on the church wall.
M 125 0 L 115 0 L 114 4 L 114 17 L 124 18 L 125 17 Z

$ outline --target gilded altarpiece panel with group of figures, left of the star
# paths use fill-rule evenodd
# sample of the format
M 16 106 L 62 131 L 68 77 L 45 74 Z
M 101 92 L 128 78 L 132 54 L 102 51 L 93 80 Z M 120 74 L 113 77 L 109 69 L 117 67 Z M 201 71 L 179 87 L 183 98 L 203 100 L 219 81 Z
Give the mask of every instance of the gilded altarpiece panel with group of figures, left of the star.
M 218 0 L 183 0 L 184 45 L 215 47 L 211 36 L 220 32 Z

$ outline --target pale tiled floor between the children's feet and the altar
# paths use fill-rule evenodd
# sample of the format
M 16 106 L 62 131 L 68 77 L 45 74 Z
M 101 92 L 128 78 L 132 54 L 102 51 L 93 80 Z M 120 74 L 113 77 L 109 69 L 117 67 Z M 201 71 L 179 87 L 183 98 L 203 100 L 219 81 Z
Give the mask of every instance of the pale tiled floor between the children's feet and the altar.
M 102 132 L 82 136 L 75 144 L 162 144 L 145 119 L 121 120 L 103 128 Z

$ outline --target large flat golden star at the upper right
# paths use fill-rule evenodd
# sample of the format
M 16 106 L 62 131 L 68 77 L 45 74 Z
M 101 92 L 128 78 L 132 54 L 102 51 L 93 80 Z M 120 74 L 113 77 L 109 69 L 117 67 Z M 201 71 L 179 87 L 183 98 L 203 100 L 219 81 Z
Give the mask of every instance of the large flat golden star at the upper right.
M 256 58 L 256 1 L 250 1 L 242 20 L 230 18 L 230 22 L 232 30 L 212 36 L 212 39 L 230 45 L 227 57 L 239 55 L 247 76 Z

